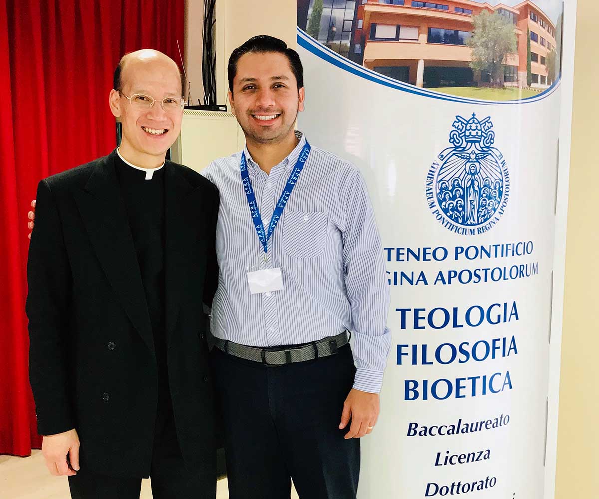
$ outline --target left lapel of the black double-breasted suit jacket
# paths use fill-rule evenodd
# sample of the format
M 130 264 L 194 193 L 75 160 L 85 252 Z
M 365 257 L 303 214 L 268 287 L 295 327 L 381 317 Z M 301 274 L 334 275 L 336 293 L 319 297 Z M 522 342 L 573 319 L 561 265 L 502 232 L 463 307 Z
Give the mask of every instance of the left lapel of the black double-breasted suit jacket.
M 108 282 L 134 328 L 154 351 L 146 295 L 116 177 L 114 155 L 116 150 L 96 165 L 84 189 L 75 192 L 75 201 Z

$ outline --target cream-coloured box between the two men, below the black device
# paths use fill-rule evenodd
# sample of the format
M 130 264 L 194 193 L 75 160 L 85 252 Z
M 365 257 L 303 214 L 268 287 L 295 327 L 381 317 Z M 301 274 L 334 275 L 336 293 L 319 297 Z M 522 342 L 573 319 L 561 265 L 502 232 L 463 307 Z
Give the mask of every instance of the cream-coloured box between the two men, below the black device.
M 244 145 L 234 114 L 186 109 L 181 133 L 171 147 L 171 160 L 201 172 L 213 159 L 236 153 Z

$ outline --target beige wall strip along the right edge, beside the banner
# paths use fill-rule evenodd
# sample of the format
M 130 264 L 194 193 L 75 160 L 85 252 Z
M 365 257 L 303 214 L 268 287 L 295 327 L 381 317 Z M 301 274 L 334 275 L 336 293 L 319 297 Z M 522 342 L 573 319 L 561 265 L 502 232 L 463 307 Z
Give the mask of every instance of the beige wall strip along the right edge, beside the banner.
M 596 0 L 577 0 L 556 499 L 599 497 Z

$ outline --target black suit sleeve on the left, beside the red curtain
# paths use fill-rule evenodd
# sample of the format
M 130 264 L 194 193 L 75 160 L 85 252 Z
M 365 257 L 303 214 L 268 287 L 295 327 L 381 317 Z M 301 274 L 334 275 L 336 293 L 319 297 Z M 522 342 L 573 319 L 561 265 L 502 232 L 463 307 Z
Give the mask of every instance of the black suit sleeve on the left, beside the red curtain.
M 46 180 L 38 185 L 27 277 L 29 377 L 38 431 L 52 435 L 75 427 L 68 376 L 72 279 L 58 206 Z

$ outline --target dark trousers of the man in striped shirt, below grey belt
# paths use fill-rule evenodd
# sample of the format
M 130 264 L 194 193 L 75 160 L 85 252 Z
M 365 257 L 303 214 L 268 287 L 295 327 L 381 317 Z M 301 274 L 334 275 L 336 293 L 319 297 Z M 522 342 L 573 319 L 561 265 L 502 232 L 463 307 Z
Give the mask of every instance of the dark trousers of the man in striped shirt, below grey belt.
M 355 499 L 359 439 L 339 430 L 355 376 L 350 346 L 278 367 L 212 352 L 229 499 Z

